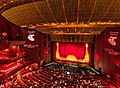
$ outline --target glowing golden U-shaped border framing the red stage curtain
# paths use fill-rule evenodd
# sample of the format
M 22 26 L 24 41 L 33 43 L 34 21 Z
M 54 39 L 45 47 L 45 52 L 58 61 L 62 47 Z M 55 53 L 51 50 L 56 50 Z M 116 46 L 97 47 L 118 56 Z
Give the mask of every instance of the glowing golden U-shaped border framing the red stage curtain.
M 84 58 L 76 58 L 74 55 L 67 55 L 67 57 L 61 57 L 59 53 L 59 43 L 56 43 L 56 59 L 58 60 L 65 60 L 65 61 L 74 61 L 74 62 L 81 62 L 81 63 L 89 63 L 89 52 L 88 52 L 88 44 L 85 44 L 85 56 Z

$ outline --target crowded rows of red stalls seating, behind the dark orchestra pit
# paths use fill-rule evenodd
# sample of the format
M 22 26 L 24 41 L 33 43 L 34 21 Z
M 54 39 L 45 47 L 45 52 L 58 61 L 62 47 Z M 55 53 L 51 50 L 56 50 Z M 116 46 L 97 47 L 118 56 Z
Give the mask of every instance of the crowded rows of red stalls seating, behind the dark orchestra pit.
M 34 68 L 29 65 L 26 68 Z M 16 76 L 13 85 L 17 88 L 105 88 L 98 75 L 81 75 L 55 70 L 50 66 L 39 67 L 36 70 L 22 69 Z M 62 68 L 61 68 L 62 69 Z M 26 72 L 23 72 L 26 70 Z M 6 85 L 4 85 L 6 86 Z M 8 85 L 7 85 L 8 86 Z

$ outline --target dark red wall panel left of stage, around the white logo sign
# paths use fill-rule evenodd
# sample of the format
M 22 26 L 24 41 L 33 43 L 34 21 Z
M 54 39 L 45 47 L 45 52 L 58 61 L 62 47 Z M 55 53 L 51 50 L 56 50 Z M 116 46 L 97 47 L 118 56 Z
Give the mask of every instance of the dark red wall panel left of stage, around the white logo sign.
M 28 39 L 28 31 L 35 31 L 34 39 L 35 41 L 30 41 Z M 43 50 L 44 50 L 44 35 L 34 29 L 22 29 L 22 39 L 25 40 L 25 45 L 31 44 L 32 46 L 38 46 L 35 48 L 25 47 L 26 54 L 33 61 L 40 61 L 43 59 Z

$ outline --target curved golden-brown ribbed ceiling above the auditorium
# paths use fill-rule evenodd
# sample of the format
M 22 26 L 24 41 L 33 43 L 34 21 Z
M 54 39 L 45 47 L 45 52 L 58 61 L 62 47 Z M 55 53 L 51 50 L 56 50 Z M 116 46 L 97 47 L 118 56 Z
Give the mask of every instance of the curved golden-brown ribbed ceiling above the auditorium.
M 120 0 L 0 0 L 0 12 L 51 35 L 99 35 L 120 25 Z

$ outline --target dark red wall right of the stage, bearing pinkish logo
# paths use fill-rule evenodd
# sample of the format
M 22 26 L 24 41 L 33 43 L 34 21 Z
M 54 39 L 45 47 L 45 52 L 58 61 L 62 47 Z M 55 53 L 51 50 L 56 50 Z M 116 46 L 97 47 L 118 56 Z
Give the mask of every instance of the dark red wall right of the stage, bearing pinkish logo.
M 110 37 L 117 38 L 113 44 Z M 120 27 L 107 28 L 97 36 L 95 46 L 96 68 L 101 67 L 120 87 Z

